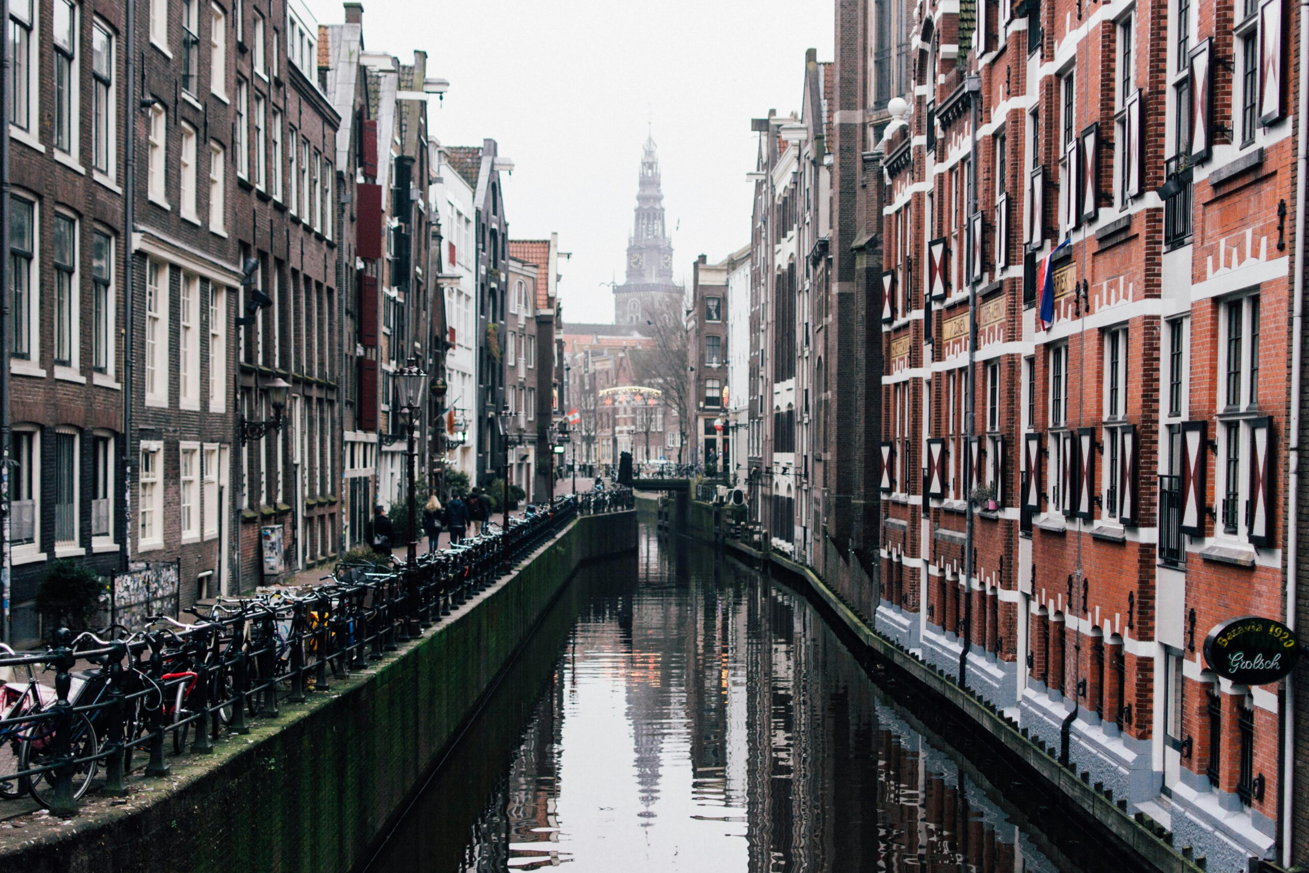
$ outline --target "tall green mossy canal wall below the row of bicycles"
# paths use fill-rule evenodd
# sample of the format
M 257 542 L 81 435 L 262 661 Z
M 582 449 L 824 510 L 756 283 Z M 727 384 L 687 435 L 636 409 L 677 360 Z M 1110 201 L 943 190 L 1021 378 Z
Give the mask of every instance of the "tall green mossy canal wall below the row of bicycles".
M 459 738 L 584 563 L 636 547 L 635 510 L 583 516 L 425 635 L 334 682 L 171 780 L 88 798 L 68 822 L 0 830 L 0 868 L 24 873 L 356 870 Z

